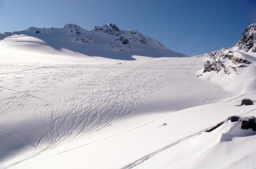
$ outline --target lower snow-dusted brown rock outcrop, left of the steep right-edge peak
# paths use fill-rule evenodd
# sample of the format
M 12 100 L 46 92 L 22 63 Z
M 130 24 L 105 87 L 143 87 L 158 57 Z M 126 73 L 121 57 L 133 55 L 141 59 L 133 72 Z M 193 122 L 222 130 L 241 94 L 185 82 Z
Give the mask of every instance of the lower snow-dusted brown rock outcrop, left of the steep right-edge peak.
M 227 65 L 226 61 L 232 61 L 234 64 Z M 220 51 L 213 51 L 207 58 L 204 63 L 205 72 L 215 71 L 217 73 L 223 69 L 225 74 L 230 74 L 232 71 L 239 74 L 239 68 L 248 67 L 251 62 L 246 61 L 245 59 L 237 57 L 237 52 L 231 51 L 226 48 L 222 48 Z

